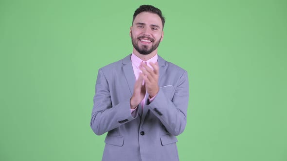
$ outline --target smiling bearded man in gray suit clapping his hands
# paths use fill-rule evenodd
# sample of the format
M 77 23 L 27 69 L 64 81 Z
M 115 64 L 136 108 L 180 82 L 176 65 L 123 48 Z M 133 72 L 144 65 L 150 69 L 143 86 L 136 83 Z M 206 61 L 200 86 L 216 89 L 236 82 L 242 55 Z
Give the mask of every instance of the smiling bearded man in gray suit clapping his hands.
M 103 161 L 178 161 L 176 135 L 186 125 L 187 72 L 158 54 L 161 10 L 142 5 L 134 13 L 133 53 L 99 69 L 90 126 L 108 132 Z

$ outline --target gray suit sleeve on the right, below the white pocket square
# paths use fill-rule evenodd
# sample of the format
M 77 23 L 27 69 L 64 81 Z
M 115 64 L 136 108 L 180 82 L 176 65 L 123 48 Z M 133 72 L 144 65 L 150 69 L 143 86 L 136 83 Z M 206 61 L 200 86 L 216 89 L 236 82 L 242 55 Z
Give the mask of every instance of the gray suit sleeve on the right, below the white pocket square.
M 189 99 L 189 85 L 187 72 L 181 75 L 172 99 L 165 96 L 166 93 L 160 88 L 152 102 L 147 102 L 150 109 L 160 120 L 164 127 L 172 135 L 179 135 L 186 126 L 186 113 Z

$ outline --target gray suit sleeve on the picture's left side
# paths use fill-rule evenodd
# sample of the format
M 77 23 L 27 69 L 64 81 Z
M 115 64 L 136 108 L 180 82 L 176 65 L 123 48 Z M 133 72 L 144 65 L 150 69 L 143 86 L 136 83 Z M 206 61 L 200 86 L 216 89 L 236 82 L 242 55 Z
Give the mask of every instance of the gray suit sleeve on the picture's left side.
M 136 118 L 130 111 L 130 98 L 117 105 L 112 104 L 108 80 L 102 69 L 98 72 L 93 101 L 90 127 L 97 135 L 102 135 Z M 138 110 L 133 113 L 138 113 Z

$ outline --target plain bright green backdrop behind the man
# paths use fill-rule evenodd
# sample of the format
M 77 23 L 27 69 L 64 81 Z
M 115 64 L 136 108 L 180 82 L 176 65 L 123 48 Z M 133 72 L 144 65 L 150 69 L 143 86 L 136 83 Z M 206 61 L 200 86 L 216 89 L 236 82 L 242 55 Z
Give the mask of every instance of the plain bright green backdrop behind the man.
M 180 160 L 287 161 L 286 0 L 0 0 L 0 161 L 101 160 L 97 71 L 132 52 L 141 4 L 189 74 Z

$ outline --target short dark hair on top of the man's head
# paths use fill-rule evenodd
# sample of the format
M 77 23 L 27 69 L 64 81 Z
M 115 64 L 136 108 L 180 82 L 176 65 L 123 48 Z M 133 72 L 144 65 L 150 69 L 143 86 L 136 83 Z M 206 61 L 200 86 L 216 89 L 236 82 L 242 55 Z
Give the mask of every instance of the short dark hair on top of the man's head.
M 161 17 L 161 23 L 162 23 L 162 29 L 164 27 L 164 22 L 165 22 L 165 19 L 164 19 L 164 16 L 162 16 L 161 14 L 161 10 L 152 6 L 152 5 L 141 5 L 134 13 L 134 16 L 132 18 L 132 23 L 134 22 L 135 18 L 137 15 L 139 15 L 140 13 L 142 12 L 150 12 L 150 13 L 153 13 L 153 14 L 157 14 L 158 16 Z

